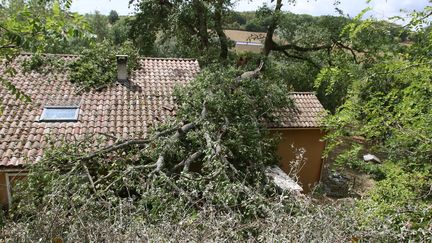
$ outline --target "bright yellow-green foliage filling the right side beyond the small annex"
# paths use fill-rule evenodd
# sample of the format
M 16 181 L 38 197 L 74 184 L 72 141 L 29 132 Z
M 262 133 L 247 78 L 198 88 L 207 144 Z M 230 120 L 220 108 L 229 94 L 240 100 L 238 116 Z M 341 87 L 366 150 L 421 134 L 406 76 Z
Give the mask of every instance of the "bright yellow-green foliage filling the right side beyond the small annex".
M 414 18 L 409 28 L 419 23 L 424 22 Z M 336 159 L 339 166 L 354 165 L 379 179 L 358 202 L 360 227 L 378 227 L 384 221 L 385 228 L 379 227 L 394 231 L 399 239 L 428 239 L 432 220 L 432 73 L 429 54 L 423 50 L 430 37 L 420 31 L 416 43 L 406 47 L 394 44 L 389 36 L 380 36 L 389 28 L 393 27 L 371 19 L 354 19 L 343 35 L 352 46 L 367 47 L 362 65 L 321 70 L 318 85 L 336 84 L 336 89 L 341 89 L 338 82 L 346 83 L 343 104 L 326 119 L 328 149 L 342 150 Z M 361 162 L 359 156 L 365 153 L 378 155 L 384 164 L 372 167 Z

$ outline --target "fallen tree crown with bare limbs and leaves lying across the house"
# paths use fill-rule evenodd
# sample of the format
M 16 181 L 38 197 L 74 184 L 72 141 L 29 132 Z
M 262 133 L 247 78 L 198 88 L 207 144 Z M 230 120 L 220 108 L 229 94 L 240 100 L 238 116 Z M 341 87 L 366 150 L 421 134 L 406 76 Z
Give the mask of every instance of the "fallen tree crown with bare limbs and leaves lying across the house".
M 117 220 L 120 205 L 145 222 L 178 222 L 209 206 L 242 220 L 265 216 L 277 196 L 265 167 L 277 158 L 264 121 L 289 101 L 287 87 L 259 71 L 204 70 L 176 90 L 177 116 L 143 139 L 93 151 L 112 135 L 53 146 L 14 198 L 15 222 L 45 222 L 48 239 L 77 222 Z

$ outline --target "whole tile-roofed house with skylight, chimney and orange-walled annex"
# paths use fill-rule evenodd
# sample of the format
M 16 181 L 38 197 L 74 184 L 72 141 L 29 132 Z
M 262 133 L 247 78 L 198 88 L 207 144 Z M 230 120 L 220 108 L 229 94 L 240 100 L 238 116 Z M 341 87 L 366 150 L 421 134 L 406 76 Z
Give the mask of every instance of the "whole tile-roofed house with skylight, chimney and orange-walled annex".
M 18 62 L 26 58 L 30 56 L 21 55 Z M 60 58 L 72 61 L 78 56 L 61 55 Z M 42 158 L 50 137 L 70 140 L 95 133 L 122 139 L 143 137 L 150 127 L 175 115 L 174 86 L 186 84 L 200 71 L 194 59 L 142 58 L 139 68 L 126 78 L 127 72 L 122 71 L 126 65 L 124 58 L 118 58 L 119 80 L 128 80 L 126 83 L 118 82 L 104 90 L 87 93 L 80 93 L 65 73 L 23 74 L 16 65 L 18 73 L 11 81 L 32 102 L 23 103 L 0 86 L 4 108 L 0 115 L 0 204 L 10 203 L 14 183 L 25 176 L 26 164 Z M 322 106 L 312 93 L 291 95 L 297 108 L 281 111 L 284 114 L 281 119 L 269 126 L 283 137 L 279 146 L 282 168 L 288 170 L 285 163 L 292 160 L 288 152 L 291 142 L 305 146 L 310 158 L 300 174 L 307 176 L 305 182 L 315 183 L 319 180 L 323 148 L 316 118 Z

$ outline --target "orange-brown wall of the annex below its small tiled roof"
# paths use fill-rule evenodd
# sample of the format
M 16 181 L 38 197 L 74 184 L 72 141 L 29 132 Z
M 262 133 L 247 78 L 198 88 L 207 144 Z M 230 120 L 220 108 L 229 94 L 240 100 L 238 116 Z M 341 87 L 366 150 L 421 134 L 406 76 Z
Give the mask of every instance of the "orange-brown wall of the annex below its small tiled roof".
M 306 160 L 297 175 L 304 192 L 309 192 L 321 178 L 325 144 L 320 140 L 324 134 L 319 129 L 281 129 L 272 130 L 272 133 L 279 134 L 282 138 L 278 145 L 278 154 L 281 157 L 280 167 L 286 173 L 290 172 L 290 162 L 296 158 L 295 149 L 291 145 L 297 149 L 305 149 Z

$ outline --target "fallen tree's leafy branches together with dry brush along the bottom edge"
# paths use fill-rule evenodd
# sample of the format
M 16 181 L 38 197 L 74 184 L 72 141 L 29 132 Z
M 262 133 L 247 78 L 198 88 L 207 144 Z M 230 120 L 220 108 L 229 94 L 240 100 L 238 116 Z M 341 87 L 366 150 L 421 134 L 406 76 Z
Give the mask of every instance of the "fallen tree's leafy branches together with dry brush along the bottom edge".
M 143 139 L 116 139 L 104 146 L 114 138 L 104 134 L 53 146 L 14 191 L 0 237 L 54 242 L 432 239 L 427 229 L 395 228 L 397 215 L 368 218 L 374 208 L 358 207 L 355 200 L 321 204 L 272 186 L 265 168 L 277 162 L 275 141 L 263 121 L 289 105 L 286 90 L 258 70 L 240 75 L 216 67 L 178 89 L 177 117 Z

